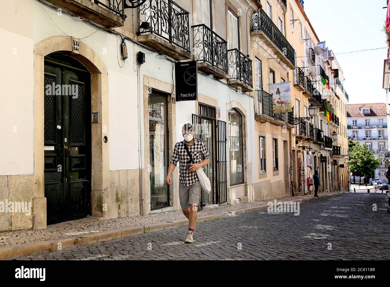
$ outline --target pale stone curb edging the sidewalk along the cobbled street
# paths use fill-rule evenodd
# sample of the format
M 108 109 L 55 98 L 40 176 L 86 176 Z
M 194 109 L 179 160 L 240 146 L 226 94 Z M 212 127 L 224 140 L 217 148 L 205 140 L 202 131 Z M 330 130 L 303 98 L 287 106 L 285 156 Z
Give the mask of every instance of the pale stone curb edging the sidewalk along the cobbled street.
M 342 193 L 347 193 L 347 192 L 323 194 L 320 197 L 333 196 Z M 293 201 L 302 202 L 313 198 L 314 197 L 308 197 L 308 198 L 302 198 L 300 200 L 293 200 Z M 208 221 L 211 219 L 219 219 L 219 218 L 228 217 L 232 215 L 244 214 L 246 212 L 266 209 L 267 207 L 268 205 L 261 205 L 257 207 L 250 207 L 247 209 L 239 209 L 232 212 L 225 212 L 223 214 L 200 216 L 197 218 L 197 222 Z M 178 219 L 174 221 L 160 222 L 160 223 L 154 223 L 150 225 L 145 224 L 145 228 L 149 227 L 148 232 L 156 232 L 159 230 L 163 230 L 164 228 L 165 229 L 174 228 L 182 225 L 188 225 L 188 219 Z M 58 238 L 56 240 L 35 241 L 35 242 L 29 242 L 25 244 L 7 245 L 7 246 L 0 247 L 0 260 L 9 260 L 13 258 L 26 256 L 26 255 L 33 255 L 36 253 L 50 252 L 55 250 L 56 249 L 55 246 L 56 245 L 58 246 L 59 243 L 61 244 L 61 249 L 65 249 L 74 246 L 83 246 L 83 245 L 104 242 L 104 241 L 121 239 L 131 235 L 143 234 L 143 233 L 144 233 L 144 225 L 141 225 L 141 226 L 130 226 L 130 227 L 120 228 L 120 229 L 105 230 L 100 232 L 92 232 L 90 234 L 85 234 L 83 236 L 79 235 L 73 237 Z

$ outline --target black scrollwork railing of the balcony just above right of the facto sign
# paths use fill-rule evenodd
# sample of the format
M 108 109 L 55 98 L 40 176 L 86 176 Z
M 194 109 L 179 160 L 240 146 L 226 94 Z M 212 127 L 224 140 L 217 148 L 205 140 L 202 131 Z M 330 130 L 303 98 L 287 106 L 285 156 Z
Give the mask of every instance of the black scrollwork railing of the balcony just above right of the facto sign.
M 194 60 L 207 62 L 227 73 L 227 41 L 204 24 L 192 28 Z

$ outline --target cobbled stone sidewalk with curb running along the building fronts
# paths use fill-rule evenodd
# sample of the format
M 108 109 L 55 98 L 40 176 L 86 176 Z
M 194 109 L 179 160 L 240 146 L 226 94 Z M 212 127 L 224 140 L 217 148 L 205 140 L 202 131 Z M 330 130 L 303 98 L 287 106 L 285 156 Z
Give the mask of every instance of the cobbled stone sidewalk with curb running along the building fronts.
M 340 192 L 320 193 L 319 196 L 335 194 L 340 194 Z M 310 199 L 314 199 L 314 196 L 287 196 L 277 200 L 305 201 Z M 204 207 L 198 213 L 197 222 L 267 208 L 269 201 L 273 200 Z M 188 219 L 181 210 L 176 210 L 107 220 L 87 217 L 49 225 L 44 230 L 29 229 L 0 232 L 0 259 L 10 259 L 34 253 L 50 252 L 60 248 L 93 244 L 186 224 L 188 224 Z

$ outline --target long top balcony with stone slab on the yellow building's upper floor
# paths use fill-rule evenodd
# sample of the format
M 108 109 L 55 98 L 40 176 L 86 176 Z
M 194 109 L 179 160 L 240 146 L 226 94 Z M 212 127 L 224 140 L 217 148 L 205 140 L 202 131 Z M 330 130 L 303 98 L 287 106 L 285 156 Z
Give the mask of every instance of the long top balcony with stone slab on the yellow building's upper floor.
M 295 51 L 293 46 L 290 45 L 263 9 L 259 9 L 259 11 L 252 14 L 250 32 L 251 36 L 257 36 L 264 40 L 291 70 L 295 68 Z

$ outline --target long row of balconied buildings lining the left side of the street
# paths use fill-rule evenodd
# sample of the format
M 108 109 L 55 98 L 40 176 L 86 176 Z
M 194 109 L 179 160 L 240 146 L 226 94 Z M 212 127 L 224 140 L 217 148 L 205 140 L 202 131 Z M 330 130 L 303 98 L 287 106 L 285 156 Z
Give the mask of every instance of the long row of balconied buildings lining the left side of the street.
M 32 202 L 0 231 L 179 210 L 178 168 L 165 179 L 185 123 L 210 155 L 199 210 L 313 193 L 315 170 L 322 192 L 346 188 L 344 78 L 302 0 L 9 0 L 0 16 L 0 201 Z

